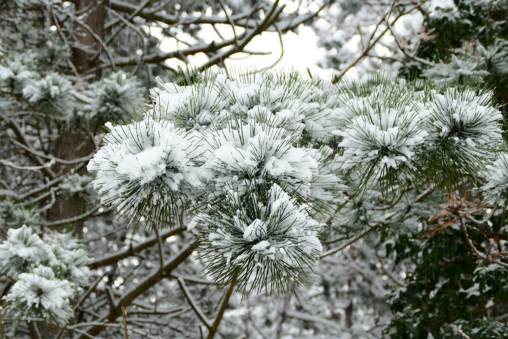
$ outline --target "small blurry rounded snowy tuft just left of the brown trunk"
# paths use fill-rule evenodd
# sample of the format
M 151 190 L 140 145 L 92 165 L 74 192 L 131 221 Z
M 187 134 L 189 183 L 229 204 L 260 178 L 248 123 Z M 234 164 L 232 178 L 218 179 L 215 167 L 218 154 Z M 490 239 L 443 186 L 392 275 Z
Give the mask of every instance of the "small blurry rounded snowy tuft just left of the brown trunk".
M 66 116 L 71 108 L 72 84 L 58 73 L 51 73 L 23 88 L 28 103 L 37 106 L 48 118 Z

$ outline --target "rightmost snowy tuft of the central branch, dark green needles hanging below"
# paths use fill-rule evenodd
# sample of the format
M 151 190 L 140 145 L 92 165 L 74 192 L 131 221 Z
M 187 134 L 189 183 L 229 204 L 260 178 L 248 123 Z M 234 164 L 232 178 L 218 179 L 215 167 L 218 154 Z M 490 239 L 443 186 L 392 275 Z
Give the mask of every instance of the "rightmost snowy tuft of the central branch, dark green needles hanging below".
M 502 114 L 492 105 L 493 93 L 472 88 L 432 91 L 427 103 L 429 147 L 427 169 L 443 182 L 457 181 L 468 173 L 474 177 L 495 159 L 493 150 L 502 140 Z

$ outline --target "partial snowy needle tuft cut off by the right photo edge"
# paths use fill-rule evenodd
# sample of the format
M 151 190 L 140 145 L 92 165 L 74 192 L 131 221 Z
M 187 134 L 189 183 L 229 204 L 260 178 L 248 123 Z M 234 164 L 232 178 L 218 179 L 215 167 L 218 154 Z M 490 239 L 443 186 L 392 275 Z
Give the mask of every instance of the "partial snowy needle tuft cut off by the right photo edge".
M 508 153 L 501 153 L 492 165 L 487 165 L 486 179 L 489 182 L 482 187 L 485 202 L 504 206 L 508 192 Z

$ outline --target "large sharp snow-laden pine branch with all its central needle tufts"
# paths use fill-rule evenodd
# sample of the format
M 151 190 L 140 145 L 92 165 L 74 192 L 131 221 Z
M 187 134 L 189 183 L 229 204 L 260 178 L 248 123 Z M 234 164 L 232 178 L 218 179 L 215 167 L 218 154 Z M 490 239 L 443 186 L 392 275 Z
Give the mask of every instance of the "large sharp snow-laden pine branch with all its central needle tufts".
M 391 220 L 365 211 L 373 218 L 365 222 L 400 228 L 413 218 L 402 209 L 422 203 L 418 191 L 406 195 L 408 186 L 451 188 L 483 173 L 501 147 L 492 93 L 467 86 L 418 88 L 380 76 L 332 85 L 261 73 L 202 74 L 191 85 L 161 87 L 151 90 L 143 120 L 108 125 L 88 165 L 94 186 L 134 222 L 146 211 L 161 227 L 182 207 L 199 215 L 209 271 L 224 283 L 239 278 L 246 292 L 304 281 L 320 256 L 321 222 L 343 204 L 354 210 L 355 196 L 397 193 L 385 208 L 394 208 Z M 457 166 L 444 168 L 448 159 Z M 365 231 L 348 232 L 355 229 Z

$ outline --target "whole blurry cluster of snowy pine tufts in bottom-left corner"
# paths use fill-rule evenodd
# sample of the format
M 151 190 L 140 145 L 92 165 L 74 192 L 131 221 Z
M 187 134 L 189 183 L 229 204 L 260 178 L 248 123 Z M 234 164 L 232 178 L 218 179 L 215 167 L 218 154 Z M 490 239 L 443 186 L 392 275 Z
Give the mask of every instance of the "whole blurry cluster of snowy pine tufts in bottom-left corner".
M 0 244 L 0 275 L 14 285 L 1 304 L 4 319 L 44 319 L 63 326 L 74 315 L 71 300 L 91 275 L 88 255 L 70 234 L 47 231 L 41 238 L 31 227 L 9 229 Z

